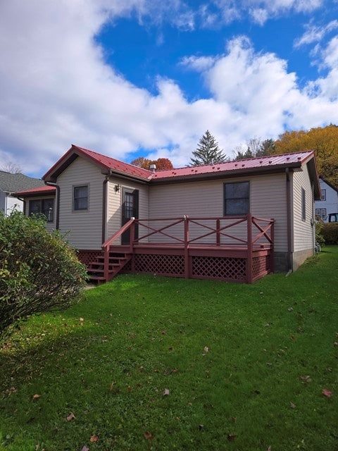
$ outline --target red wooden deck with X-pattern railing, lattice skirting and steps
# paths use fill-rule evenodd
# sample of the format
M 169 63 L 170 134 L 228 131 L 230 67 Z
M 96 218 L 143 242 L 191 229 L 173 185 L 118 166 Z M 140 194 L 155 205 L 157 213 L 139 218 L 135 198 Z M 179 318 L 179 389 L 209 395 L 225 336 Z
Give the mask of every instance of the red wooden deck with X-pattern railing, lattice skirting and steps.
M 82 250 L 79 254 L 91 278 L 99 282 L 111 280 L 119 272 L 130 272 L 253 283 L 273 272 L 273 224 L 273 219 L 250 214 L 226 218 L 132 218 L 102 245 L 101 251 Z M 130 243 L 119 245 L 127 229 Z M 170 229 L 175 229 L 175 233 L 169 233 Z M 137 238 L 135 230 L 139 233 Z

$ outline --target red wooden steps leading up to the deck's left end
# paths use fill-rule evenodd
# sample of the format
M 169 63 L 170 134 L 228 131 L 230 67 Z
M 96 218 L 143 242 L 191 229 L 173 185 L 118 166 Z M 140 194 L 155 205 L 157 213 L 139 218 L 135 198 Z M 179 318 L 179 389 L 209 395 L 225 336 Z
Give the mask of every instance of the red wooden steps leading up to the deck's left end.
M 107 280 L 104 273 L 104 255 L 96 257 L 96 259 L 89 263 L 87 267 L 89 280 L 97 283 L 108 282 L 121 271 L 121 269 L 128 263 L 128 261 L 130 261 L 131 258 L 131 253 L 110 251 Z

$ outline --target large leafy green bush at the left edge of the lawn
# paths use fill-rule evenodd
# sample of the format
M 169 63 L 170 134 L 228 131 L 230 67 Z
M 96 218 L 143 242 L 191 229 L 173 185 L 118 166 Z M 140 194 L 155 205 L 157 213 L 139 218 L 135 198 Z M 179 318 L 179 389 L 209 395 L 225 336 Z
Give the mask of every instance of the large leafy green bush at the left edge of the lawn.
M 44 217 L 0 214 L 0 338 L 20 320 L 76 302 L 87 273 L 75 250 Z

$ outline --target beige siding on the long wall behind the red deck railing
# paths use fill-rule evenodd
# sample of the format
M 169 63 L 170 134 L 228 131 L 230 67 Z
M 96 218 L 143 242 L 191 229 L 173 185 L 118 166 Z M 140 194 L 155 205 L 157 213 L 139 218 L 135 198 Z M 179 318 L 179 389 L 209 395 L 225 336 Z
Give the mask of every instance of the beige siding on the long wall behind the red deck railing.
M 275 250 L 285 252 L 287 250 L 287 200 L 284 173 L 153 186 L 149 192 L 149 217 L 175 218 L 182 217 L 184 214 L 190 217 L 223 216 L 224 183 L 241 181 L 250 182 L 250 210 L 253 216 L 275 218 Z M 212 226 L 215 226 L 215 221 Z M 170 229 L 170 234 L 174 230 L 177 234 L 180 230 L 179 236 L 182 238 L 182 225 Z M 201 228 L 193 227 L 190 237 L 202 233 L 201 230 Z M 207 230 L 204 231 L 206 232 Z M 237 232 L 238 236 L 245 238 L 246 226 L 237 226 Z M 163 237 L 157 239 L 152 237 L 151 240 L 161 241 Z M 211 240 L 214 240 L 214 237 L 210 238 L 209 242 Z

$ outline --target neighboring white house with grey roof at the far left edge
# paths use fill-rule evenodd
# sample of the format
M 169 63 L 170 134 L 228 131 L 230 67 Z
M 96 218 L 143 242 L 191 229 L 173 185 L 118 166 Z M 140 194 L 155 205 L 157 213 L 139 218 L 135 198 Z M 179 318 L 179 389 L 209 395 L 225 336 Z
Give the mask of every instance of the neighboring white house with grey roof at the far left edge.
M 0 171 L 0 211 L 8 214 L 16 209 L 23 211 L 23 200 L 13 197 L 13 192 L 30 190 L 35 187 L 44 186 L 44 180 L 28 177 L 18 173 L 12 174 L 6 171 Z

